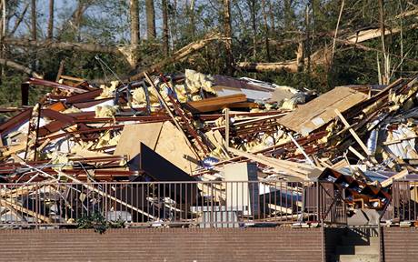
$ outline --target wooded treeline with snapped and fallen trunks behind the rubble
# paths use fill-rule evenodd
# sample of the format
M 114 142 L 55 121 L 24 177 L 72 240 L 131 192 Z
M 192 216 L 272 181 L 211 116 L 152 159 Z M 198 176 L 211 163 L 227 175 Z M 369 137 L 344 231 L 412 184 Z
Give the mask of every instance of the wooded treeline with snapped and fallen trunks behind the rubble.
M 18 90 L 20 80 L 35 72 L 55 80 L 63 60 L 65 75 L 85 79 L 139 79 L 145 69 L 193 68 L 231 76 L 251 72 L 321 92 L 377 79 L 390 83 L 418 68 L 418 6 L 409 0 L 345 1 L 343 9 L 342 0 L 73 0 L 60 8 L 54 0 L 2 1 L 0 94 Z

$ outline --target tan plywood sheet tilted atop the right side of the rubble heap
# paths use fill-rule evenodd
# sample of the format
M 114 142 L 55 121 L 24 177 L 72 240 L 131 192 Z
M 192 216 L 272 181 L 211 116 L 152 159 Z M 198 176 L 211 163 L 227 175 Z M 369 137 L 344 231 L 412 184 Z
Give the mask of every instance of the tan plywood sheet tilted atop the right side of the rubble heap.
M 279 124 L 307 136 L 309 133 L 330 122 L 336 115 L 334 110 L 344 112 L 367 99 L 367 95 L 346 86 L 339 86 L 299 106 L 293 112 L 278 120 Z

